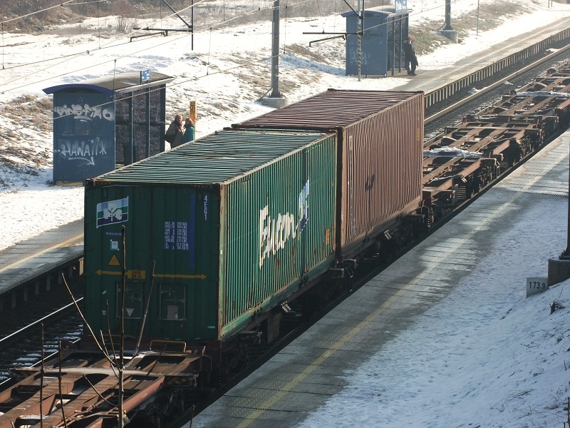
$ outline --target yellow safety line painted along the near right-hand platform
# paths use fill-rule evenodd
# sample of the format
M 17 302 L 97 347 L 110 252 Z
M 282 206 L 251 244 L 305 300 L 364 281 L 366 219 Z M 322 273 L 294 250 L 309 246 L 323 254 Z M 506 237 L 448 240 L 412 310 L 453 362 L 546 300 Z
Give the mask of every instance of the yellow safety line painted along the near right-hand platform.
M 521 198 L 524 192 L 526 192 L 529 188 L 532 187 L 532 185 L 534 185 L 534 183 L 536 183 L 539 180 L 538 178 L 539 176 L 546 174 L 547 172 L 549 172 L 549 170 L 553 169 L 555 165 L 558 165 L 559 163 L 561 163 L 561 161 L 563 161 L 563 159 L 566 158 L 567 156 L 566 153 L 567 152 L 559 156 L 559 158 L 557 158 L 556 161 L 554 161 L 549 167 L 546 167 L 543 170 L 541 170 L 541 173 L 539 173 L 537 177 L 533 178 L 532 180 L 529 180 L 521 188 L 521 190 L 514 193 L 514 195 L 512 195 L 502 205 L 500 205 L 499 208 L 497 208 L 497 210 L 494 210 L 494 213 L 492 213 L 492 215 L 489 215 L 489 217 L 482 220 L 480 224 L 478 224 L 477 226 L 472 228 L 472 230 L 470 230 L 467 234 L 465 234 L 465 236 L 461 238 L 461 240 L 459 240 L 457 243 L 448 248 L 445 251 L 445 253 L 437 257 L 437 259 L 434 260 L 432 263 L 430 263 L 430 265 L 426 267 L 425 270 L 423 270 L 423 272 L 420 273 L 420 275 L 417 275 L 415 278 L 413 278 L 413 280 L 411 280 L 408 283 L 408 285 L 400 288 L 397 292 L 388 297 L 388 300 L 386 300 L 382 305 L 377 307 L 376 310 L 374 310 L 374 312 L 372 312 L 370 315 L 368 315 L 368 317 L 366 317 L 364 320 L 358 323 L 358 325 L 356 325 L 356 327 L 354 327 L 350 332 L 346 333 L 346 335 L 341 337 L 341 339 L 338 340 L 338 342 L 331 345 L 330 349 L 323 352 L 323 354 L 320 357 L 318 357 L 316 360 L 314 360 L 314 362 L 312 362 L 311 365 L 309 365 L 309 367 L 307 367 L 301 373 L 297 374 L 296 377 L 294 377 L 294 379 L 292 379 L 288 384 L 286 384 L 283 387 L 283 389 L 280 389 L 279 392 L 276 392 L 276 394 L 273 397 L 271 397 L 270 399 L 266 399 L 266 401 L 261 403 L 256 410 L 254 410 L 251 414 L 245 417 L 242 423 L 237 425 L 237 428 L 249 427 L 249 425 L 255 422 L 257 418 L 261 416 L 261 414 L 264 414 L 264 412 L 266 412 L 266 410 L 269 410 L 276 402 L 279 402 L 279 400 L 286 397 L 286 395 L 289 394 L 291 390 L 294 387 L 296 387 L 297 384 L 301 383 L 307 376 L 309 376 L 309 374 L 314 372 L 316 369 L 320 368 L 323 362 L 328 360 L 328 358 L 333 357 L 336 354 L 336 352 L 342 351 L 343 345 L 345 345 L 346 342 L 351 340 L 352 337 L 354 337 L 359 332 L 361 332 L 361 330 L 370 325 L 371 322 L 373 322 L 376 318 L 380 317 L 380 315 L 382 315 L 382 313 L 385 312 L 385 310 L 388 310 L 398 300 L 409 297 L 410 291 L 413 292 L 413 287 L 419 282 L 419 280 L 421 280 L 426 275 L 429 275 L 430 272 L 432 272 L 432 270 L 434 270 L 438 265 L 440 265 L 440 263 L 447 260 L 447 258 L 453 258 L 455 251 L 461 247 L 463 242 L 467 240 L 472 240 L 474 238 L 474 235 L 476 235 L 476 233 L 478 233 L 480 230 L 487 228 L 489 223 L 492 223 L 495 219 L 505 215 L 505 213 L 508 212 L 509 208 L 511 208 L 514 203 L 517 203 L 517 200 Z

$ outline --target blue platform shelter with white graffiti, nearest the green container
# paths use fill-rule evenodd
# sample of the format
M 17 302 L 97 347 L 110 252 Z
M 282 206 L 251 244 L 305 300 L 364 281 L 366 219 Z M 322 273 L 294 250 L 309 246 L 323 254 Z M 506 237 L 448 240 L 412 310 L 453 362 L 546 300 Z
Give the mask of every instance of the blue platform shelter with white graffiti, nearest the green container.
M 129 71 L 43 89 L 53 93 L 53 180 L 83 181 L 164 151 L 173 80 Z

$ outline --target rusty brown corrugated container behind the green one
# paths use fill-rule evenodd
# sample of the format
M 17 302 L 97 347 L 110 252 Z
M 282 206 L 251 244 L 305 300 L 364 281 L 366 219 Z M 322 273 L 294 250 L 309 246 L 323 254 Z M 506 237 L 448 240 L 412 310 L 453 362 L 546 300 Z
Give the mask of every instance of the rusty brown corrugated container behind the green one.
M 418 208 L 423 92 L 329 89 L 234 128 L 335 132 L 339 258 L 351 258 Z

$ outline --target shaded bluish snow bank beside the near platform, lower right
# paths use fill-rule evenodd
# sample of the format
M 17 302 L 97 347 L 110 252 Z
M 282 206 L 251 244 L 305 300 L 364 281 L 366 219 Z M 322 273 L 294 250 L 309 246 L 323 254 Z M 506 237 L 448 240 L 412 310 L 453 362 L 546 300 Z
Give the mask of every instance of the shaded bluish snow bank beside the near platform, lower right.
M 546 277 L 566 248 L 567 207 L 544 200 L 499 233 L 448 297 L 344 374 L 348 387 L 297 428 L 563 428 L 570 280 L 528 298 L 524 281 Z M 555 301 L 564 309 L 551 314 Z

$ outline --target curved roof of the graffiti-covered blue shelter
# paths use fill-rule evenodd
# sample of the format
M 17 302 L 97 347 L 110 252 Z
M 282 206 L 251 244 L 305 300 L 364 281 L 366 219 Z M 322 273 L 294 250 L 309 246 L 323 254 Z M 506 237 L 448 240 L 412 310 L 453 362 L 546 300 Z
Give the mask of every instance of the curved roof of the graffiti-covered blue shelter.
M 93 78 L 87 81 L 76 83 L 65 83 L 57 86 L 50 86 L 43 89 L 45 93 L 54 93 L 64 89 L 91 89 L 113 95 L 113 93 L 132 92 L 142 88 L 163 85 L 170 83 L 174 77 L 166 74 L 156 73 L 152 71 L 147 81 L 140 81 L 140 71 L 127 71 L 126 73 L 117 73 L 113 76 L 105 76 Z

